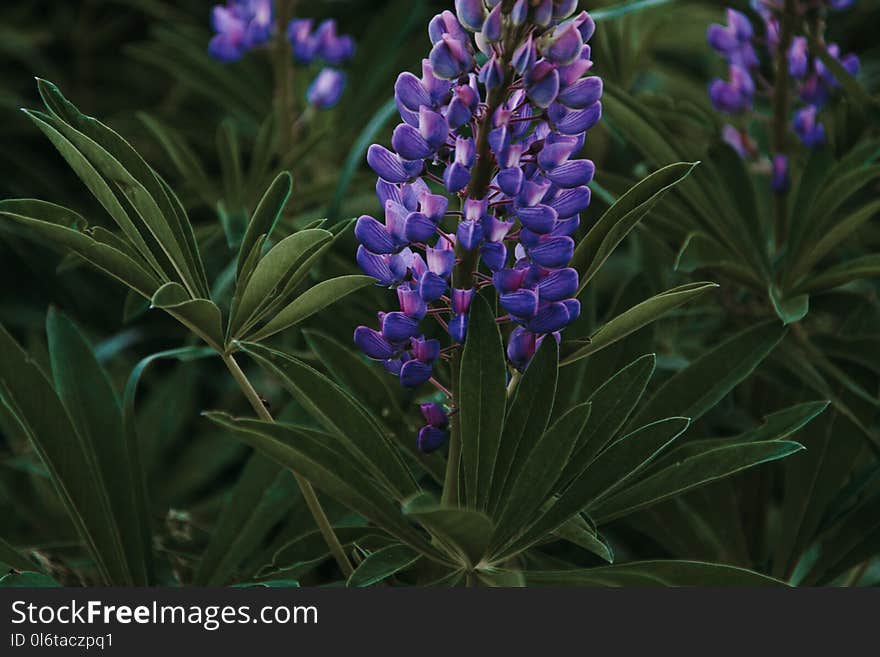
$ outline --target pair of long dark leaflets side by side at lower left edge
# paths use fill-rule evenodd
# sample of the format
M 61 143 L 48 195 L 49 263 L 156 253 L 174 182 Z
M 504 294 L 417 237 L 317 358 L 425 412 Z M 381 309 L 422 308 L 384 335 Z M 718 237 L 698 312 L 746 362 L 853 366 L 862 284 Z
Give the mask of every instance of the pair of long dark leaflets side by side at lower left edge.
M 65 511 L 95 560 L 101 582 L 146 584 L 147 555 L 136 524 L 146 519 L 134 507 L 137 491 L 129 481 L 118 401 L 108 391 L 105 375 L 87 345 L 66 320 L 56 315 L 50 322 L 56 345 L 54 367 L 68 359 L 77 363 L 69 371 L 56 372 L 63 377 L 66 403 L 76 415 L 71 416 L 45 375 L 2 327 L 0 400 L 49 471 Z M 84 372 L 89 369 L 90 385 L 83 386 L 80 377 L 88 376 Z M 108 422 L 113 426 L 108 427 Z

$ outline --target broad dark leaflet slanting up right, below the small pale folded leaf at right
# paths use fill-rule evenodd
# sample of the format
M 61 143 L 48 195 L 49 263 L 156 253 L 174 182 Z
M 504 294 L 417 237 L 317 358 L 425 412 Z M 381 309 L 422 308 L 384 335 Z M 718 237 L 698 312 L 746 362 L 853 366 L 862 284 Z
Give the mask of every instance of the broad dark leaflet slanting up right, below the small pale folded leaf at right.
M 748 377 L 785 336 L 778 322 L 758 324 L 725 340 L 668 379 L 630 426 L 651 422 L 670 408 L 697 420 Z

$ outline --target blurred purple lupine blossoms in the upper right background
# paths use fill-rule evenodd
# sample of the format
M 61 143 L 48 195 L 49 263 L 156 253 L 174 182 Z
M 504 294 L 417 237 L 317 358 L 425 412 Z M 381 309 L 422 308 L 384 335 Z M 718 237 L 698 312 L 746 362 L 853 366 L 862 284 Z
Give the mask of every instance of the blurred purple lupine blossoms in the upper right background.
M 818 12 L 827 9 L 840 11 L 854 4 L 855 0 L 828 0 L 823 3 L 806 3 L 798 0 L 798 16 L 808 11 Z M 764 24 L 762 40 L 766 45 L 771 62 L 779 56 L 780 21 L 784 11 L 783 0 L 752 0 L 752 9 L 761 17 Z M 809 5 L 809 6 L 808 6 Z M 756 95 L 756 78 L 759 76 L 760 60 L 755 48 L 758 41 L 748 16 L 734 9 L 727 9 L 727 24 L 709 26 L 707 39 L 709 45 L 718 52 L 728 64 L 729 79 L 716 79 L 709 86 L 709 98 L 715 108 L 726 114 L 743 115 L 752 111 Z M 837 44 L 827 46 L 828 53 L 840 61 L 852 75 L 858 73 L 859 59 L 854 54 L 841 57 Z M 827 103 L 831 93 L 839 87 L 839 82 L 818 57 L 810 57 L 807 38 L 794 35 L 785 53 L 788 73 L 793 82 L 800 106 L 791 117 L 791 128 L 804 146 L 813 148 L 825 141 L 825 127 L 819 120 L 819 112 Z M 789 93 L 789 89 L 775 89 L 764 82 L 768 94 Z M 756 152 L 756 146 L 744 128 L 727 125 L 722 136 L 743 157 Z M 788 188 L 788 161 L 782 154 L 772 159 L 772 185 L 776 191 Z

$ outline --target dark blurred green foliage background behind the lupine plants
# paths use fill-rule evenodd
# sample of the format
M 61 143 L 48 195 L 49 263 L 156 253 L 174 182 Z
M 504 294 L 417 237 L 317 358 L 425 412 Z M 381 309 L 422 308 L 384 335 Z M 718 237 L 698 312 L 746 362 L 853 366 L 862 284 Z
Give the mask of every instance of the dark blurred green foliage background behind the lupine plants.
M 340 31 L 355 36 L 358 53 L 349 66 L 350 86 L 342 103 L 321 115 L 308 134 L 301 136 L 305 143 L 292 162 L 294 191 L 282 217 L 282 233 L 315 219 L 336 220 L 378 210 L 373 191 L 375 177 L 363 161 L 366 146 L 372 141 L 388 142 L 394 125 L 388 106 L 394 80 L 399 71 L 418 68 L 426 53 L 424 26 L 447 4 L 439 0 L 298 3 L 299 15 L 337 18 Z M 612 4 L 596 2 L 584 8 L 594 10 Z M 595 72 L 606 83 L 638 99 L 641 106 L 660 108 L 658 115 L 670 119 L 667 136 L 672 141 L 705 149 L 715 140 L 721 124 L 706 97 L 706 85 L 718 74 L 720 63 L 705 42 L 706 26 L 721 20 L 721 3 L 682 0 L 656 4 L 600 23 L 594 42 Z M 210 5 L 203 0 L 4 3 L 0 8 L 0 198 L 51 199 L 78 210 L 92 222 L 102 221 L 102 211 L 76 176 L 18 112 L 18 108 L 33 107 L 38 102 L 34 76 L 52 80 L 84 113 L 100 117 L 124 135 L 177 190 L 205 245 L 208 267 L 216 275 L 226 265 L 225 234 L 217 202 L 238 202 L 249 212 L 274 176 L 274 171 L 257 176 L 256 182 L 241 193 L 224 187 L 224 165 L 228 165 L 229 155 L 218 154 L 218 134 L 232 130 L 247 158 L 262 121 L 271 112 L 272 77 L 268 58 L 261 53 L 229 66 L 208 59 L 205 47 L 210 36 Z M 836 17 L 830 28 L 830 36 L 841 43 L 845 52 L 859 53 L 863 63 L 859 81 L 871 94 L 880 90 L 878 26 L 880 3 L 865 0 Z M 306 75 L 297 78 L 299 94 L 306 81 Z M 678 107 L 697 108 L 702 119 L 681 120 L 683 115 L 671 110 L 663 97 L 674 98 Z M 607 118 L 591 132 L 587 146 L 588 157 L 596 162 L 599 174 L 593 206 L 583 218 L 586 225 L 629 184 L 664 164 L 652 162 L 640 144 L 621 129 L 625 126 L 616 125 L 613 113 Z M 874 130 L 852 122 L 847 125 L 846 120 L 846 116 L 840 118 L 841 127 L 836 132 L 839 154 Z M 151 129 L 156 125 L 172 126 L 179 133 L 202 163 L 203 180 L 186 175 L 175 165 L 156 130 Z M 876 196 L 876 185 L 875 180 L 863 193 Z M 602 270 L 590 292 L 592 317 L 603 317 L 612 308 L 629 307 L 675 285 L 707 278 L 675 270 L 676 251 L 689 227 L 685 218 L 674 211 L 662 214 L 634 232 Z M 844 252 L 855 257 L 876 253 L 878 247 L 880 230 L 873 221 L 857 240 L 844 245 Z M 355 248 L 350 236 L 339 241 L 316 274 L 356 273 Z M 0 232 L 0 262 L 4 272 L 0 278 L 0 323 L 47 369 L 45 318 L 50 307 L 81 327 L 120 391 L 141 359 L 193 343 L 169 317 L 132 306 L 121 286 L 5 225 Z M 718 280 L 711 275 L 708 278 Z M 735 285 L 719 282 L 722 288 L 717 294 L 680 309 L 615 349 L 589 359 L 586 369 L 578 368 L 568 375 L 570 385 L 594 385 L 596 378 L 591 378 L 591 372 L 613 372 L 648 352 L 658 354 L 659 383 L 722 339 L 756 322 L 748 310 L 753 299 L 743 296 Z M 876 404 L 872 406 L 870 398 L 877 399 L 880 374 L 876 292 L 875 279 L 863 282 L 856 296 L 820 299 L 817 304 L 814 301 L 817 309 L 824 308 L 837 319 L 845 317 L 843 323 L 851 327 L 862 327 L 853 334 L 853 339 L 866 340 L 861 343 L 862 358 L 856 359 L 861 362 L 852 358 L 858 344 L 836 347 L 838 355 L 842 354 L 838 364 L 846 368 L 848 377 L 865 391 L 869 401 L 857 395 L 851 398 L 845 390 L 840 396 L 848 408 L 854 409 L 869 434 L 876 434 Z M 349 344 L 353 327 L 369 322 L 381 295 L 373 290 L 358 293 L 312 317 L 306 328 Z M 845 333 L 837 335 L 845 337 Z M 319 362 L 298 331 L 286 333 L 279 344 L 310 362 Z M 738 433 L 773 411 L 827 398 L 784 370 L 768 359 L 746 384 L 725 396 L 699 421 L 698 433 L 705 437 Z M 290 402 L 277 384 L 256 371 L 254 374 L 273 410 L 281 417 L 296 417 L 300 412 L 296 403 Z M 836 392 L 840 380 L 831 385 Z M 415 428 L 418 417 L 411 402 L 402 393 L 395 400 L 403 409 L 405 422 Z M 280 546 L 308 526 L 308 516 L 292 482 L 279 479 L 257 498 L 258 505 L 246 521 L 248 530 L 242 532 L 245 543 L 227 546 L 225 554 L 213 555 L 222 562 L 212 570 L 213 578 L 200 575 L 200 555 L 205 554 L 216 531 L 223 505 L 236 491 L 235 484 L 249 455 L 248 448 L 230 439 L 200 412 L 246 412 L 247 406 L 222 365 L 205 359 L 157 362 L 141 382 L 137 408 L 139 434 L 148 455 L 145 467 L 153 491 L 155 545 L 165 557 L 164 581 L 248 581 L 271 563 Z M 823 429 L 832 431 L 822 422 L 830 420 L 823 416 L 812 425 L 811 431 L 817 436 Z M 73 528 L 54 499 L 39 461 L 2 411 L 0 435 L 3 537 L 13 545 L 37 548 L 58 581 L 79 583 L 77 563 L 81 552 Z M 797 439 L 805 443 L 812 440 L 809 436 L 802 438 Z M 786 479 L 780 475 L 784 466 L 746 473 L 723 482 L 720 494 L 717 487 L 710 487 L 706 493 L 665 503 L 654 512 L 613 526 L 609 540 L 623 560 L 670 556 L 721 560 L 787 578 L 792 575 L 790 568 L 780 567 L 777 560 L 774 570 L 768 556 L 782 540 L 780 531 L 794 532 L 790 540 L 800 547 L 793 548 L 792 554 L 799 562 L 799 550 L 821 543 L 815 538 L 823 522 L 828 521 L 825 516 L 834 503 L 846 507 L 856 504 L 853 494 L 858 500 L 876 494 L 876 473 L 880 470 L 867 447 L 872 440 L 876 438 L 851 430 L 838 431 L 830 442 L 822 443 L 821 436 L 815 438 L 817 449 L 826 450 L 832 471 L 817 470 L 813 485 L 806 490 L 792 487 L 795 476 Z M 855 493 L 850 491 L 848 498 L 841 491 L 846 493 L 846 486 L 853 482 L 860 487 Z M 828 490 L 820 491 L 821 508 L 804 511 L 807 520 L 800 531 L 806 534 L 799 535 L 797 527 L 785 525 L 786 505 L 800 500 L 806 509 L 810 496 L 818 494 L 816 487 L 823 486 Z M 719 503 L 726 506 L 720 508 Z M 344 523 L 345 510 L 333 502 L 327 504 L 335 519 Z M 864 518 L 859 521 L 862 524 L 856 526 L 856 533 L 866 538 L 860 559 L 852 564 L 858 568 L 837 573 L 833 580 L 836 583 L 880 581 L 880 566 L 874 556 L 880 548 L 876 537 L 880 513 L 874 515 L 872 511 L 880 506 L 875 502 L 865 508 Z M 811 514 L 818 515 L 811 518 Z M 715 516 L 721 518 L 713 527 L 711 519 Z M 591 555 L 578 554 L 577 558 L 583 563 L 599 563 Z M 302 583 L 321 583 L 332 572 L 332 566 L 312 564 L 300 570 L 288 575 Z

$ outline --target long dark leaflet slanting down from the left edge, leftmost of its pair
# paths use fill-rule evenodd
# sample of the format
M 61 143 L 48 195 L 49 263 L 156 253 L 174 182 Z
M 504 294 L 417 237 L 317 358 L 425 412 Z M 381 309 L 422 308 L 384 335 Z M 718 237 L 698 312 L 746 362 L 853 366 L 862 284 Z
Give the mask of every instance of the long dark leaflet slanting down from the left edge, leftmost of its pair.
M 93 446 L 45 375 L 0 326 L 0 401 L 49 471 L 105 584 L 133 583 Z M 121 440 L 122 436 L 115 436 Z M 108 439 L 113 436 L 108 437 Z

